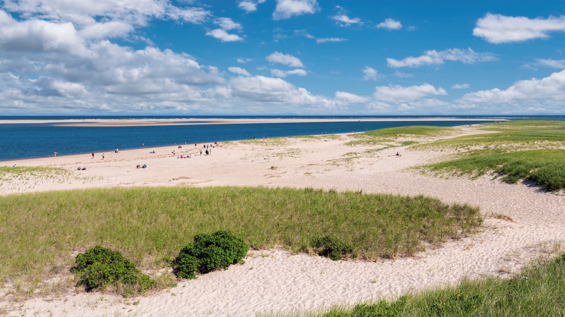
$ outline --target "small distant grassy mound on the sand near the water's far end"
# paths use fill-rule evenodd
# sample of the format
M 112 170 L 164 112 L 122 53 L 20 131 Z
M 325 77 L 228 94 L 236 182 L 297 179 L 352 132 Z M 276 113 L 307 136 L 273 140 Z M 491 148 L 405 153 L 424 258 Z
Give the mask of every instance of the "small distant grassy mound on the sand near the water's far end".
M 370 146 L 375 144 L 387 144 L 396 142 L 398 138 L 433 138 L 444 137 L 446 135 L 457 132 L 453 127 L 441 126 L 399 126 L 386 127 L 385 129 L 371 130 L 364 133 L 350 134 L 350 137 L 357 138 L 347 142 L 349 146 L 364 145 Z

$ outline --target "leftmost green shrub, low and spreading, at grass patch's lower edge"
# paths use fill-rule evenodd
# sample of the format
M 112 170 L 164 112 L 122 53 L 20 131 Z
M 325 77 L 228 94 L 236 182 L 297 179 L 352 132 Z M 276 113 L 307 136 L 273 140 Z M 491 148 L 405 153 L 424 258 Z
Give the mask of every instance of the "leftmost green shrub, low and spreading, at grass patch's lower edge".
M 102 285 L 123 284 L 127 293 L 148 290 L 154 281 L 136 268 L 136 263 L 124 258 L 120 252 L 95 246 L 76 256 L 72 272 L 80 274 L 77 285 L 93 290 Z

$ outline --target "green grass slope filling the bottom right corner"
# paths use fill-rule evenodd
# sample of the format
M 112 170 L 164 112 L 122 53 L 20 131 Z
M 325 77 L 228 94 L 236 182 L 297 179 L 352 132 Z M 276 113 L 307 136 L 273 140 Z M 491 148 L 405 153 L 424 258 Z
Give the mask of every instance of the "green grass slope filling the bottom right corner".
M 565 255 L 540 259 L 511 278 L 464 279 L 457 285 L 329 311 L 260 313 L 255 317 L 565 316 Z

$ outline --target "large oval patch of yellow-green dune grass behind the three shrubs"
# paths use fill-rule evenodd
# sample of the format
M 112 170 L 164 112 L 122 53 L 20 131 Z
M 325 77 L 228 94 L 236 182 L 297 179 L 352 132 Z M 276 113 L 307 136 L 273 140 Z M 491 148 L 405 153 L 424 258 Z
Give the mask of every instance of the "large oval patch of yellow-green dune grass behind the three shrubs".
M 311 250 L 331 234 L 368 260 L 411 256 L 479 226 L 479 208 L 425 196 L 264 187 L 134 187 L 0 197 L 0 285 L 27 285 L 103 245 L 140 268 L 169 263 L 195 234 L 229 230 L 254 248 Z M 149 260 L 148 260 L 149 259 Z

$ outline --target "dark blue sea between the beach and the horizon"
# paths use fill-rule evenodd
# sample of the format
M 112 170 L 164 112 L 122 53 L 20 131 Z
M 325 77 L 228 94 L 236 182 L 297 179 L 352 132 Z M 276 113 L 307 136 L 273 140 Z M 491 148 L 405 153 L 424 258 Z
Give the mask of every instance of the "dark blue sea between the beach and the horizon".
M 354 121 L 273 124 L 207 124 L 175 126 L 55 126 L 52 124 L 2 124 L 2 120 L 168 119 L 197 118 L 458 118 L 486 120 L 565 120 L 565 116 L 0 116 L 0 160 L 119 149 L 168 146 L 175 143 L 209 143 L 249 138 L 294 137 L 321 133 L 349 133 L 407 125 L 456 126 L 480 121 Z M 145 143 L 145 146 L 142 144 Z

